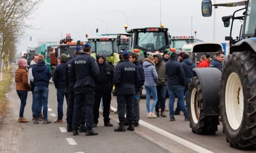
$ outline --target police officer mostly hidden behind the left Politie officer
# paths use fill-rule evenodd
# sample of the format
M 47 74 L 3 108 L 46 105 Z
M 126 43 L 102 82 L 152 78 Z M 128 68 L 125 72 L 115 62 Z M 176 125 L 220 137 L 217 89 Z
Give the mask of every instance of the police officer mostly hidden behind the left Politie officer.
M 66 66 L 66 92 L 68 92 L 68 106 L 67 106 L 67 132 L 72 132 L 72 119 L 73 119 L 73 109 L 74 109 L 74 86 L 76 83 L 76 77 L 74 74 L 68 73 L 69 68 L 71 66 L 71 63 L 74 61 L 75 57 L 80 55 L 82 53 L 82 48 L 80 46 L 76 47 L 76 50 L 74 52 L 74 58 L 67 62 Z M 82 113 L 83 116 L 80 115 L 80 126 L 79 126 L 79 132 L 85 132 L 85 106 L 82 107 Z

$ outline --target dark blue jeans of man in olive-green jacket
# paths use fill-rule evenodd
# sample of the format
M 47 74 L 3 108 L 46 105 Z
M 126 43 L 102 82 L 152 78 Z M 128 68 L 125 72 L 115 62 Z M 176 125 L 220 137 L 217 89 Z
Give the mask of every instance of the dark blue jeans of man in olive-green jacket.
M 167 85 L 156 86 L 157 102 L 155 105 L 155 112 L 159 112 L 159 107 L 161 108 L 161 112 L 164 112 L 165 101 L 166 101 L 166 90 L 167 90 Z

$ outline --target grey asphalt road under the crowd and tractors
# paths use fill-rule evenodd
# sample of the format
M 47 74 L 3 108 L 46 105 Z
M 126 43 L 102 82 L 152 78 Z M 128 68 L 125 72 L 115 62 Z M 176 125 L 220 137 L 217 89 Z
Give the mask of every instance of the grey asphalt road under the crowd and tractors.
M 14 71 L 14 70 L 13 70 Z M 14 80 L 13 80 L 14 81 Z M 85 136 L 79 133 L 73 136 L 66 130 L 66 109 L 64 101 L 64 123 L 43 125 L 33 124 L 31 114 L 32 93 L 29 92 L 24 116 L 29 124 L 19 124 L 20 100 L 12 83 L 8 92 L 9 110 L 5 120 L 0 125 L 0 153 L 194 153 L 194 152 L 255 152 L 236 150 L 229 146 L 222 133 L 222 126 L 215 135 L 196 135 L 191 132 L 189 122 L 184 121 L 184 116 L 175 116 L 176 121 L 170 122 L 167 118 L 146 118 L 146 102 L 140 102 L 140 127 L 134 132 L 114 132 L 118 126 L 117 114 L 111 113 L 111 123 L 114 127 L 104 127 L 102 114 L 95 131 L 98 136 Z M 53 84 L 49 85 L 48 119 L 53 122 L 57 117 L 57 96 Z M 168 99 L 166 102 L 168 107 Z M 117 108 L 116 96 L 112 96 L 111 106 Z M 176 106 L 175 106 L 176 107 Z M 100 108 L 102 111 L 102 109 Z M 169 112 L 166 112 L 167 116 Z M 182 112 L 181 112 L 182 114 Z

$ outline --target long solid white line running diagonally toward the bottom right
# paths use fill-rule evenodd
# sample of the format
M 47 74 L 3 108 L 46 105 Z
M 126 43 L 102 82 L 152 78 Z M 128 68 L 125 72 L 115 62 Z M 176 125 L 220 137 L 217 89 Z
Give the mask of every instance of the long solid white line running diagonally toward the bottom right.
M 111 106 L 111 109 L 114 110 L 114 111 L 117 110 L 116 108 L 114 108 L 112 106 Z M 199 153 L 213 153 L 210 150 L 207 150 L 203 147 L 200 147 L 196 144 L 193 144 L 192 142 L 189 142 L 189 141 L 187 141 L 185 139 L 182 139 L 178 136 L 175 136 L 175 135 L 173 135 L 173 134 L 171 134 L 167 131 L 164 131 L 160 128 L 157 128 L 157 127 L 155 127 L 155 126 L 153 126 L 153 125 L 151 125 L 151 124 L 149 124 L 145 121 L 140 120 L 139 123 L 140 123 L 140 125 L 143 125 L 143 126 L 147 127 L 148 129 L 153 130 L 153 131 L 155 131 L 155 132 L 157 132 L 157 133 L 159 133 L 159 134 L 161 134 L 161 135 L 163 135 L 163 136 L 165 136 L 165 137 L 167 137 L 167 138 L 169 138 L 169 139 L 171 139 L 175 142 L 178 142 L 179 144 L 182 144 L 182 145 L 184 145 L 184 146 L 186 146 L 186 147 L 188 147 L 188 148 L 190 148 L 190 149 L 192 149 L 196 152 L 199 152 Z

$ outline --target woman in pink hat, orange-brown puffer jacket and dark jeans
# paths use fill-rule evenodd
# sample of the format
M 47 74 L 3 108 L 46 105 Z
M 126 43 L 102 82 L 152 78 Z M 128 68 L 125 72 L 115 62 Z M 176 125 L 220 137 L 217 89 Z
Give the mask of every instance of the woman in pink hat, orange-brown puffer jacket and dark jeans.
M 28 82 L 28 70 L 27 68 L 27 60 L 21 58 L 18 60 L 19 68 L 15 72 L 15 83 L 16 83 L 16 91 L 18 96 L 21 99 L 21 107 L 20 107 L 20 115 L 18 122 L 19 123 L 29 123 L 23 116 L 24 109 L 26 106 L 28 91 L 30 90 L 31 86 Z

